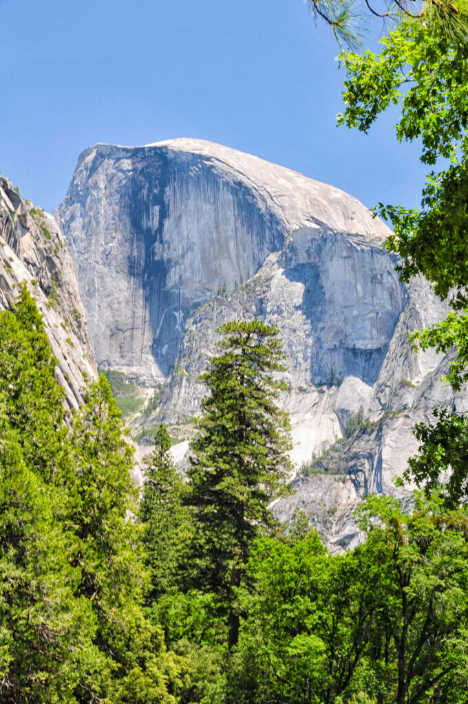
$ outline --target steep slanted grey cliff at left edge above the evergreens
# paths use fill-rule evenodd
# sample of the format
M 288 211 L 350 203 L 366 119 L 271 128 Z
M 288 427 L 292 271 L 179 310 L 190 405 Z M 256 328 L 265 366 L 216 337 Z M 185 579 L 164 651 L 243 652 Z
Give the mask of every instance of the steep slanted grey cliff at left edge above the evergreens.
M 11 307 L 23 283 L 44 318 L 66 403 L 78 408 L 97 372 L 66 241 L 52 215 L 20 198 L 0 177 L 0 310 Z

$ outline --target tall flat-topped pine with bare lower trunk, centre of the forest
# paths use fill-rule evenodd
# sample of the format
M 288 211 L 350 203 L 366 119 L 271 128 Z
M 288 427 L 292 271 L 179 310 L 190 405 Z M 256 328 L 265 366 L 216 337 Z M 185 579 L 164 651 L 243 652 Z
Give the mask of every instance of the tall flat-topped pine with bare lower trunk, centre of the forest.
M 278 408 L 285 370 L 278 329 L 235 320 L 222 325 L 220 356 L 200 377 L 199 433 L 192 441 L 188 502 L 195 518 L 199 584 L 225 599 L 228 648 L 238 642 L 235 589 L 254 538 L 273 527 L 269 503 L 288 489 L 288 415 Z M 276 376 L 275 376 L 276 374 Z

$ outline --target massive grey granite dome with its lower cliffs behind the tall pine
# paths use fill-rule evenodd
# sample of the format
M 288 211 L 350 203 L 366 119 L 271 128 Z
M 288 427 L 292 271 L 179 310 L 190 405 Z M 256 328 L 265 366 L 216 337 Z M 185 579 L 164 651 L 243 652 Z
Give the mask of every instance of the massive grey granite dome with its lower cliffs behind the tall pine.
M 400 283 L 388 229 L 351 196 L 194 139 L 85 150 L 58 210 L 99 365 L 148 386 L 140 417 L 187 422 L 216 327 L 261 318 L 283 337 L 296 494 L 332 550 L 359 541 L 352 510 L 414 453 L 414 423 L 455 401 L 447 360 L 416 354 L 412 329 L 446 306 L 423 280 Z M 457 399 L 462 410 L 463 398 Z M 148 432 L 149 436 L 151 435 Z

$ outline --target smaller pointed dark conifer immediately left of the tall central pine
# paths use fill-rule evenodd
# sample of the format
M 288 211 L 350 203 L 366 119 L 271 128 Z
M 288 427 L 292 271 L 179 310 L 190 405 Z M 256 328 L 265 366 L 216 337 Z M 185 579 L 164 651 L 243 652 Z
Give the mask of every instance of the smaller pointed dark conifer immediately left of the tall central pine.
M 154 441 L 139 513 L 144 525 L 145 561 L 151 576 L 146 596 L 149 605 L 181 588 L 190 536 L 187 508 L 183 505 L 184 484 L 171 458 L 171 440 L 162 423 Z

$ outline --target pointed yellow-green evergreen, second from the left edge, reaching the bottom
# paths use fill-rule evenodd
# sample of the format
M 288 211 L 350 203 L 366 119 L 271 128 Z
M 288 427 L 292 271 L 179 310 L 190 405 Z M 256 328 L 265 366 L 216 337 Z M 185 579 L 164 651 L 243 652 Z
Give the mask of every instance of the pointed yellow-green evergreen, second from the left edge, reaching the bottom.
M 78 593 L 92 603 L 96 642 L 107 659 L 101 691 L 117 704 L 176 704 L 168 686 L 178 680 L 182 661 L 166 652 L 161 628 L 142 612 L 148 579 L 132 517 L 133 448 L 123 437 L 121 413 L 104 375 L 75 414 L 71 441 L 73 562 L 81 570 Z

